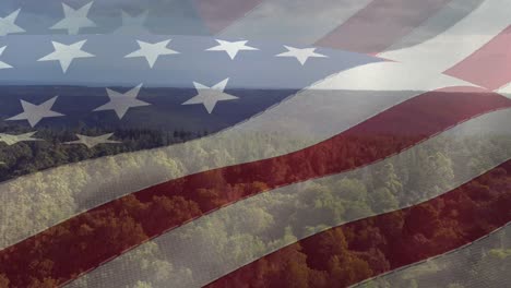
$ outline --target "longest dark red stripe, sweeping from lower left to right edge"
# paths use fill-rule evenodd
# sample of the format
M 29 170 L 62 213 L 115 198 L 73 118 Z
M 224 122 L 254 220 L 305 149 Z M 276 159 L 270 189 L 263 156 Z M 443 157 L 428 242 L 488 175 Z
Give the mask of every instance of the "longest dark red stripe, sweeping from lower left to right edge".
M 62 284 L 222 206 L 373 163 L 460 121 L 510 107 L 508 98 L 476 88 L 425 93 L 302 151 L 171 180 L 78 215 L 1 251 L 0 274 L 21 287 L 44 278 Z M 51 269 L 33 264 L 49 262 Z

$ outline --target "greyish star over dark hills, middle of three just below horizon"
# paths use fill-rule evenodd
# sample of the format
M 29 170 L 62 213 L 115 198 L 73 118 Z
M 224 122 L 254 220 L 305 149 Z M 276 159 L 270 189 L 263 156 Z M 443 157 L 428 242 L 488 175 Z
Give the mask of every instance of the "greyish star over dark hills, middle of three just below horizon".
M 141 87 L 142 87 L 142 84 L 130 89 L 129 92 L 124 94 L 107 88 L 107 93 L 108 93 L 108 97 L 110 98 L 110 101 L 103 106 L 97 107 L 96 109 L 94 109 L 94 111 L 115 110 L 117 113 L 117 117 L 119 117 L 119 119 L 122 119 L 126 112 L 128 112 L 128 109 L 130 109 L 131 107 L 151 105 L 148 103 L 136 99 L 136 96 L 139 95 Z

